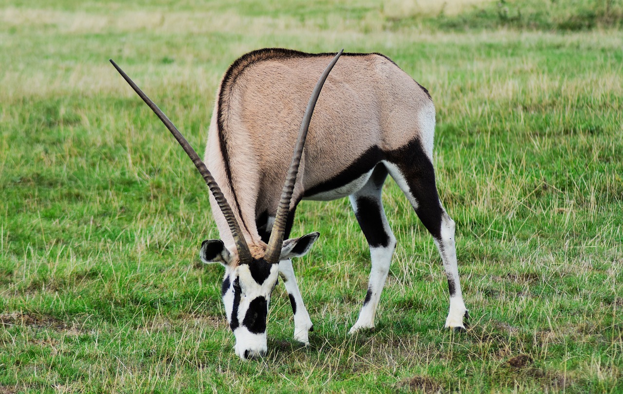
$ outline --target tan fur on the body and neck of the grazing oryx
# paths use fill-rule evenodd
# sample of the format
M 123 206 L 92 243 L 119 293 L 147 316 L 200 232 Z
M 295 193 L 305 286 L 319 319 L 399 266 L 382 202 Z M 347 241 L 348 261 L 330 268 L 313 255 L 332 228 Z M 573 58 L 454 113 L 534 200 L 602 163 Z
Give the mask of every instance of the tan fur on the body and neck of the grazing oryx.
M 255 228 L 256 206 L 259 211 L 276 210 L 307 101 L 333 57 L 297 53 L 262 50 L 245 55 L 217 91 L 205 162 L 252 250 L 251 245 L 263 244 Z M 374 145 L 396 150 L 419 137 L 431 155 L 433 135 L 426 126 L 434 125 L 434 119 L 435 109 L 424 89 L 388 58 L 345 53 L 328 76 L 313 112 L 293 204 L 305 190 L 343 172 Z M 221 137 L 226 139 L 232 184 L 227 180 Z M 211 206 L 222 241 L 235 250 L 212 197 Z

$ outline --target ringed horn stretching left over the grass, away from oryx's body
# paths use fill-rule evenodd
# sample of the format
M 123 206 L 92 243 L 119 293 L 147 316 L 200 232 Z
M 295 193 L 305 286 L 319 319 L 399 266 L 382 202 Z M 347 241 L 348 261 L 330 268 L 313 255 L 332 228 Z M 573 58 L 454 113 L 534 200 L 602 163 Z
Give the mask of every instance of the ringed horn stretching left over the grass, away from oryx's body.
M 164 114 L 164 112 L 162 112 L 158 108 L 158 106 L 156 106 L 156 104 L 154 104 L 154 102 L 151 101 L 151 99 L 148 98 L 147 95 L 143 93 L 143 91 L 138 86 L 136 86 L 134 81 L 132 81 L 130 77 L 125 72 L 123 72 L 123 70 L 121 70 L 121 68 L 117 65 L 117 63 L 113 62 L 112 59 L 110 59 L 110 63 L 112 63 L 112 65 L 115 66 L 115 68 L 117 68 L 117 71 L 119 71 L 121 76 L 123 76 L 123 79 L 125 79 L 126 82 L 130 84 L 132 89 L 134 89 L 134 91 L 141 97 L 141 99 L 145 101 L 145 104 L 147 104 L 149 108 L 151 108 L 151 111 L 154 111 L 154 113 L 160 118 L 160 120 L 164 123 L 164 126 L 166 126 L 166 128 L 169 129 L 171 134 L 173 134 L 173 137 L 175 137 L 175 139 L 178 140 L 179 145 L 182 145 L 182 148 L 184 149 L 186 154 L 188 154 L 188 157 L 190 157 L 191 160 L 193 160 L 195 167 L 197 167 L 197 170 L 199 170 L 199 173 L 201 174 L 201 176 L 203 176 L 204 180 L 206 181 L 207 187 L 212 192 L 212 196 L 214 196 L 216 203 L 219 204 L 219 208 L 221 208 L 221 211 L 223 213 L 223 216 L 225 216 L 227 224 L 229 224 L 229 229 L 232 232 L 232 237 L 234 237 L 236 249 L 238 249 L 238 256 L 240 259 L 240 263 L 250 262 L 251 252 L 249 251 L 249 246 L 247 245 L 247 242 L 242 236 L 242 231 L 240 231 L 240 226 L 235 219 L 234 211 L 232 211 L 231 206 L 229 206 L 229 203 L 227 203 L 227 200 L 225 199 L 225 196 L 223 195 L 221 188 L 219 188 L 219 185 L 217 185 L 216 180 L 214 180 L 214 176 L 212 176 L 212 174 L 207 170 L 206 165 L 201 161 L 201 158 L 199 158 L 199 155 L 197 155 L 197 152 L 194 151 L 193 147 L 191 147 L 188 141 L 184 138 L 184 135 L 182 135 L 181 132 L 178 131 L 178 128 L 175 127 L 173 122 L 169 120 L 169 118 Z

